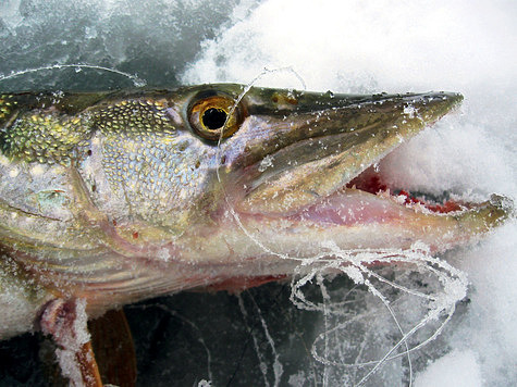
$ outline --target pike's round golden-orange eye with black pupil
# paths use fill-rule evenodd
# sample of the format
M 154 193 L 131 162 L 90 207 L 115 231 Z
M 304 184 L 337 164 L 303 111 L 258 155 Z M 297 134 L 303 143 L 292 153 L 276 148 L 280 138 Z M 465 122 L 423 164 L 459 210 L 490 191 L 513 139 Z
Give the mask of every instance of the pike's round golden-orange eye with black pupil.
M 198 96 L 188 108 L 188 122 L 199 137 L 218 141 L 227 138 L 244 121 L 243 108 L 230 96 Z

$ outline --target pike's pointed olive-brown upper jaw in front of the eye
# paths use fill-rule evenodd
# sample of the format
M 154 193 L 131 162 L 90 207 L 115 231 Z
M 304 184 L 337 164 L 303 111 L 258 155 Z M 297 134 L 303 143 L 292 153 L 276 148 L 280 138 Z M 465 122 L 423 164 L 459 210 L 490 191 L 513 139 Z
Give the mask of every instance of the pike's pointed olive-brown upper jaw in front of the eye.
M 288 215 L 330 196 L 463 100 L 450 92 L 303 93 L 291 110 L 268 114 L 259 90 L 241 130 L 221 145 L 244 213 Z

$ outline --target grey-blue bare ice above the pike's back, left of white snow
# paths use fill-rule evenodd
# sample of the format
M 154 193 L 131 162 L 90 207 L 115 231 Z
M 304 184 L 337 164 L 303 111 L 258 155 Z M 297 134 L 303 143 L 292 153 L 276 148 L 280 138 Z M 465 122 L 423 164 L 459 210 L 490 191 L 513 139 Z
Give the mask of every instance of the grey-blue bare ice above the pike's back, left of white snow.
M 152 86 L 177 85 L 202 39 L 229 23 L 239 1 L 5 0 L 0 2 L 0 72 L 54 64 L 116 67 Z M 253 5 L 253 2 L 247 3 Z M 47 71 L 2 83 L 2 89 L 132 87 L 106 72 Z

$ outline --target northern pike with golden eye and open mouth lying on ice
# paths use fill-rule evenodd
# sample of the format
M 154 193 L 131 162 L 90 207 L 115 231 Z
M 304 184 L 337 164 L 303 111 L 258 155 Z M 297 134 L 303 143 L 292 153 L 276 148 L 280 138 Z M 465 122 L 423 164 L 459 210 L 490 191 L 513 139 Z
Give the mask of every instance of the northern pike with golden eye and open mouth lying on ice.
M 45 327 L 56 300 L 96 316 L 285 278 L 329 241 L 478 239 L 513 211 L 504 198 L 432 203 L 372 168 L 461 100 L 232 84 L 1 95 L 0 338 Z

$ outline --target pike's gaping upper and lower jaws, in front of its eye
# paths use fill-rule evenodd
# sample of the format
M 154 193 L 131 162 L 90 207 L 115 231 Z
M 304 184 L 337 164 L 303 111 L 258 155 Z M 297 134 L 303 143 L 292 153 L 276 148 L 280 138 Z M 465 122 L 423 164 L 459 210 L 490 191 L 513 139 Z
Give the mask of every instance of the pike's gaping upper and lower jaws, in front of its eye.
M 245 227 L 285 246 L 283 252 L 299 254 L 296 246 L 313 245 L 306 255 L 321 249 L 322 240 L 342 249 L 405 249 L 421 241 L 443 251 L 512 213 L 513 203 L 504 197 L 493 195 L 480 203 L 431 200 L 392 187 L 377 171 L 399 145 L 456 108 L 461 95 L 309 95 L 313 110 L 304 103 L 306 96 L 297 97 L 296 108 L 283 116 L 262 121 L 250 115 L 253 124 L 245 121 L 221 148 L 234 180 L 231 205 Z M 257 128 L 261 143 L 254 142 Z M 246 151 L 234 157 L 234 147 Z

